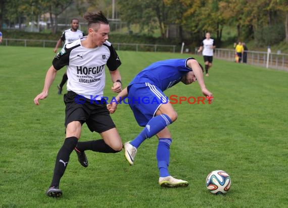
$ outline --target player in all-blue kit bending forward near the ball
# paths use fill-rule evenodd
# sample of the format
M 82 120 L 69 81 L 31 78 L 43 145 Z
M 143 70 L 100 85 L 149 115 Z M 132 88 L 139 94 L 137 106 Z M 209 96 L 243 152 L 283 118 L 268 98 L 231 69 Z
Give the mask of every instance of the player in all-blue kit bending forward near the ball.
M 194 58 L 159 61 L 137 74 L 117 95 L 115 102 L 107 106 L 110 113 L 114 113 L 120 100 L 128 98 L 137 123 L 145 127 L 136 138 L 124 143 L 125 157 L 130 165 L 133 165 L 137 148 L 143 141 L 154 135 L 159 138 L 156 158 L 160 171 L 159 184 L 164 187 L 185 187 L 188 182 L 173 178 L 168 171 L 172 137 L 167 126 L 176 121 L 177 113 L 163 91 L 179 82 L 191 84 L 196 80 L 202 93 L 212 97 L 204 83 L 202 66 Z M 141 102 L 139 96 L 148 99 Z

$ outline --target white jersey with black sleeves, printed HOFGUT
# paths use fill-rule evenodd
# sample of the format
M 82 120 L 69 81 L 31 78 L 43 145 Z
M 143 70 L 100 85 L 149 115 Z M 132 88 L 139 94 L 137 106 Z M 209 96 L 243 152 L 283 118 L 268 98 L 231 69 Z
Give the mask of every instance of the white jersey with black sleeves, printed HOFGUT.
M 67 65 L 67 90 L 84 97 L 94 99 L 103 96 L 105 87 L 105 65 L 115 71 L 121 65 L 116 50 L 109 41 L 102 46 L 85 48 L 81 40 L 87 36 L 66 44 L 53 60 L 53 66 L 60 70 Z

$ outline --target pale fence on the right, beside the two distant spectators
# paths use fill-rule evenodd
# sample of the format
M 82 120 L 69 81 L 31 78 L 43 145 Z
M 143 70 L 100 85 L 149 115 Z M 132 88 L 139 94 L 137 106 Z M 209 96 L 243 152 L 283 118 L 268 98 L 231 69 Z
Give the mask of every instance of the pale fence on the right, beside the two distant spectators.
M 197 49 L 198 48 L 195 48 L 196 54 L 198 54 Z M 263 67 L 267 66 L 267 52 L 253 51 L 253 50 L 247 50 L 245 52 L 247 53 L 247 64 L 258 65 Z M 213 57 L 216 59 L 222 59 L 234 62 L 235 50 L 215 48 Z M 268 68 L 288 71 L 288 54 L 270 53 L 268 60 Z

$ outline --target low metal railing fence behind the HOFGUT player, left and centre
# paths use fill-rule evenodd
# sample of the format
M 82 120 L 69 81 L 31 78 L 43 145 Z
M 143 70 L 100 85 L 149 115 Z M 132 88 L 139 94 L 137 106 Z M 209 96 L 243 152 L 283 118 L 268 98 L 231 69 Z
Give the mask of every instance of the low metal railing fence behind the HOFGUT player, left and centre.
M 56 40 L 33 40 L 33 39 L 14 39 L 3 38 L 3 45 L 17 46 L 38 46 L 38 47 L 55 47 Z M 175 53 L 176 45 L 161 44 L 139 44 L 139 43 L 113 43 L 117 50 L 136 50 L 136 51 L 165 51 Z

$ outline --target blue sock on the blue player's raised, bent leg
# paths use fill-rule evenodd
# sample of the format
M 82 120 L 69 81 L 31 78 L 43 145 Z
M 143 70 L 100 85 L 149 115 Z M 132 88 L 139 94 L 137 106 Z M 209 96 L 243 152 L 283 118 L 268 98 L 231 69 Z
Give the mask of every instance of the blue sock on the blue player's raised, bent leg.
M 166 114 L 161 114 L 152 118 L 141 133 L 138 134 L 138 136 L 133 139 L 130 144 L 138 148 L 145 139 L 151 138 L 171 123 L 171 119 Z

